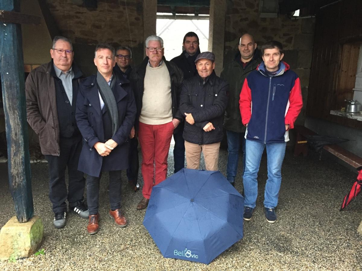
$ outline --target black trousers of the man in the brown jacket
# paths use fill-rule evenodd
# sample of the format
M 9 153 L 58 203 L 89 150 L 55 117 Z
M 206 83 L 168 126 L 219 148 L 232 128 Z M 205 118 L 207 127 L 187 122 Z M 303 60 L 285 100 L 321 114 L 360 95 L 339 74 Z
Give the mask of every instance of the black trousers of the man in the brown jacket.
M 83 201 L 85 179 L 83 172 L 77 170 L 82 138 L 80 136 L 65 138 L 59 142 L 60 155 L 45 155 L 49 167 L 49 199 L 53 204 L 53 212 L 67 210 L 69 206 L 77 206 Z M 65 180 L 65 171 L 68 167 L 68 191 Z

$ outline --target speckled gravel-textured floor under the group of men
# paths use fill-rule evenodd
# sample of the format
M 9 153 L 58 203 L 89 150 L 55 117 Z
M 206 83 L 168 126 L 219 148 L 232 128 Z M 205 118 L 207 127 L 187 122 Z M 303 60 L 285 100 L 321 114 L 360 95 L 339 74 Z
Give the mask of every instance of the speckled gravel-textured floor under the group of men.
M 169 172 L 172 174 L 172 151 Z M 226 173 L 227 151 L 220 150 L 219 169 Z M 0 228 L 15 214 L 9 193 L 7 164 L 0 164 Z M 278 220 L 270 224 L 263 211 L 267 178 L 263 156 L 258 179 L 260 196 L 253 219 L 244 223 L 244 238 L 209 265 L 165 259 L 142 225 L 145 210 L 137 211 L 142 193 L 124 182 L 123 212 L 129 221 L 119 228 L 108 217 L 108 176 L 100 192 L 100 232 L 88 235 L 87 219 L 70 214 L 67 225 L 55 229 L 48 198 L 47 164 L 32 164 L 34 212 L 44 224 L 45 255 L 0 262 L 0 270 L 362 270 L 362 195 L 345 211 L 342 200 L 357 174 L 318 155 L 294 157 L 287 150 L 277 208 Z M 141 177 L 140 177 L 140 180 Z M 142 181 L 140 181 L 142 183 Z M 238 176 L 236 189 L 241 192 Z

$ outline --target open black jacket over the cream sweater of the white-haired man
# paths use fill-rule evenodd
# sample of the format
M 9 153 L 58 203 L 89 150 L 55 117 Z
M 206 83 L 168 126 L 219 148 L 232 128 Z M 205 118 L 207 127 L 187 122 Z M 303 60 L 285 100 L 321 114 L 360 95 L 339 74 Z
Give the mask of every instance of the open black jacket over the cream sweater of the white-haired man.
M 180 106 L 180 93 L 182 87 L 182 81 L 184 80 L 184 74 L 182 71 L 176 66 L 176 64 L 165 60 L 163 60 L 167 66 L 168 72 L 171 78 L 171 98 L 172 98 L 172 117 L 176 118 L 180 121 L 184 119 L 184 116 L 178 110 Z M 130 81 L 132 90 L 134 92 L 137 114 L 135 121 L 135 129 L 138 130 L 138 119 L 142 110 L 142 98 L 144 91 L 144 76 L 146 75 L 146 67 L 148 65 L 148 57 L 142 61 L 142 63 L 137 67 L 132 69 L 130 75 Z

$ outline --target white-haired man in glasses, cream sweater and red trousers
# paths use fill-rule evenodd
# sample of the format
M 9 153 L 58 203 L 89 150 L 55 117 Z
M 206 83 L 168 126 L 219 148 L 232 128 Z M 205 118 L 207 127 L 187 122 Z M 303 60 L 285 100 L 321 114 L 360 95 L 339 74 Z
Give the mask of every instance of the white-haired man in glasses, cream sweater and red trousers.
M 145 42 L 147 57 L 131 74 L 137 115 L 136 130 L 142 150 L 143 198 L 137 205 L 147 207 L 153 185 L 167 176 L 167 156 L 173 130 L 183 116 L 178 110 L 183 73 L 164 59 L 163 40 L 156 35 Z

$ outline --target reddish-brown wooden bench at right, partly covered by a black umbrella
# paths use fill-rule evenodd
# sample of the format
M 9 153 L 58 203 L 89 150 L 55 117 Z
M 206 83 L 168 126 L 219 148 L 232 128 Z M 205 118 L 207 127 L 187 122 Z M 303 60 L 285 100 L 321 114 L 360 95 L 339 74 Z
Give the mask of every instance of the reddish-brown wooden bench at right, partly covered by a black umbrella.
M 294 129 L 296 131 L 296 141 L 294 147 L 294 155 L 298 156 L 301 153 L 303 156 L 307 156 L 308 154 L 308 143 L 306 136 L 313 136 L 316 135 L 315 132 L 312 130 L 301 126 L 295 125 Z M 332 144 L 332 145 L 325 145 L 323 147 L 324 150 L 330 152 L 334 156 L 337 156 L 339 159 L 343 160 L 344 162 L 352 165 L 354 168 L 358 168 L 362 166 L 362 158 L 349 152 L 342 147 Z

